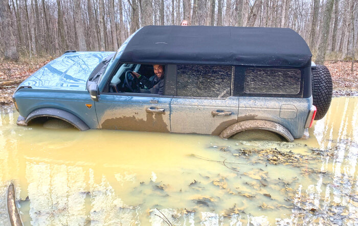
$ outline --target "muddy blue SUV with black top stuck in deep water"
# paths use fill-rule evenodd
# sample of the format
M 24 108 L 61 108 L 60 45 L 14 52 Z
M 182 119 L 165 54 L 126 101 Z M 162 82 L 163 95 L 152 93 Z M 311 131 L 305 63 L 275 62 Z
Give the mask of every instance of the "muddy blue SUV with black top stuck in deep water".
M 325 115 L 331 88 L 329 71 L 291 29 L 147 26 L 117 52 L 66 52 L 21 83 L 13 101 L 18 125 L 58 118 L 82 131 L 221 138 L 266 130 L 293 141 L 316 109 Z

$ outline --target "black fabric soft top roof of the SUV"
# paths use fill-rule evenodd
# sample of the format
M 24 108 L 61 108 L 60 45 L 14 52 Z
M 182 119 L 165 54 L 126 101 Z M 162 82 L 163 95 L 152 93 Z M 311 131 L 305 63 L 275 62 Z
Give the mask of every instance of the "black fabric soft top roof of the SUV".
M 128 42 L 121 62 L 310 66 L 303 38 L 287 28 L 146 26 Z

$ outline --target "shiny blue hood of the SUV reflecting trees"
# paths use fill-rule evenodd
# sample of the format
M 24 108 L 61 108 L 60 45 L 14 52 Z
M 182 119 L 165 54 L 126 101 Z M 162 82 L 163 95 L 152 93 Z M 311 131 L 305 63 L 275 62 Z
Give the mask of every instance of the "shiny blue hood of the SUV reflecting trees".
M 38 89 L 86 90 L 86 82 L 95 67 L 113 52 L 66 53 L 49 62 L 20 86 Z

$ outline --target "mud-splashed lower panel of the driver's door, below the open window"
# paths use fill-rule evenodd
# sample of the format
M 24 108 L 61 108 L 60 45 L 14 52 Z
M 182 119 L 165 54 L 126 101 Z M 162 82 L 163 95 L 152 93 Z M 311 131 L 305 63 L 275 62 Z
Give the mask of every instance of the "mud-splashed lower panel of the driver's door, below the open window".
M 99 126 L 101 129 L 169 133 L 170 101 L 171 97 L 101 94 L 96 102 Z M 163 112 L 150 112 L 160 109 Z

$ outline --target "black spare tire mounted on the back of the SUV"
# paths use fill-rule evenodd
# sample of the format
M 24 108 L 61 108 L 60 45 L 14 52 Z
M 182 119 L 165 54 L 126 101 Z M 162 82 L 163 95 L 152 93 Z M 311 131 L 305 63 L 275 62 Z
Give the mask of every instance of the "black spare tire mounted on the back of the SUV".
M 317 108 L 315 120 L 320 120 L 326 115 L 332 100 L 332 78 L 324 65 L 312 68 L 312 97 Z

